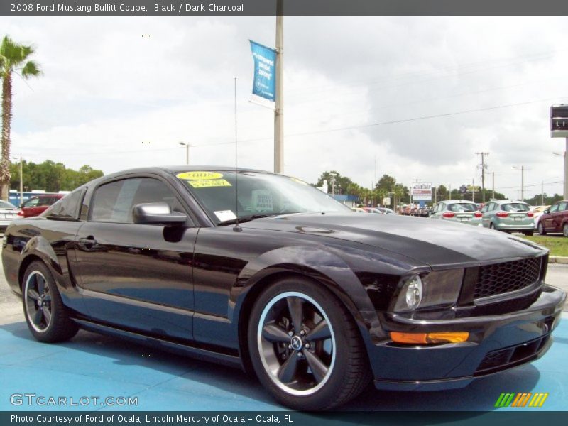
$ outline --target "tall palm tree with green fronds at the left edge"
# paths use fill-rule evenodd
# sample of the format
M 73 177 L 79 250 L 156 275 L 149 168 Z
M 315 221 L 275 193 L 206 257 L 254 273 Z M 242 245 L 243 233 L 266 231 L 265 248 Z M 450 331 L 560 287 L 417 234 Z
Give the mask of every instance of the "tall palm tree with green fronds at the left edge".
M 10 193 L 10 126 L 12 121 L 12 75 L 23 79 L 41 74 L 33 60 L 31 46 L 14 43 L 8 35 L 0 45 L 0 77 L 2 79 L 2 158 L 0 160 L 0 198 L 8 200 Z

